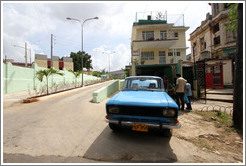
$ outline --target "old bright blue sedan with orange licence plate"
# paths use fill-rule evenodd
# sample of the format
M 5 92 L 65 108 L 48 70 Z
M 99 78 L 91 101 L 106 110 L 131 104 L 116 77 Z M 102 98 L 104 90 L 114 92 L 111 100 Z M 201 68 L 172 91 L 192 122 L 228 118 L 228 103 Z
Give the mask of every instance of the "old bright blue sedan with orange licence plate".
M 123 90 L 106 103 L 109 127 L 116 131 L 130 127 L 148 132 L 158 129 L 161 133 L 179 128 L 178 105 L 164 91 L 163 80 L 155 76 L 127 77 Z

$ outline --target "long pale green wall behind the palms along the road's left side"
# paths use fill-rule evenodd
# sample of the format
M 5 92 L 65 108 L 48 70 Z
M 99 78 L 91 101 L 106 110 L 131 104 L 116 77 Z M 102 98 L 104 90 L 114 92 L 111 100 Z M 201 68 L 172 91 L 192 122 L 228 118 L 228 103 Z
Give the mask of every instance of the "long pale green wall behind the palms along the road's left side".
M 46 87 L 46 79 L 40 82 L 36 77 L 36 72 L 41 69 L 37 64 L 33 64 L 32 68 L 13 66 L 11 63 L 3 64 L 3 93 L 14 93 L 20 91 L 28 91 L 41 89 Z M 76 82 L 73 73 L 67 70 L 60 70 L 64 76 L 53 75 L 49 77 L 49 87 L 71 85 Z M 101 80 L 99 77 L 84 74 L 84 83 Z M 82 75 L 77 78 L 77 84 L 81 84 Z M 73 86 L 74 87 L 74 86 Z

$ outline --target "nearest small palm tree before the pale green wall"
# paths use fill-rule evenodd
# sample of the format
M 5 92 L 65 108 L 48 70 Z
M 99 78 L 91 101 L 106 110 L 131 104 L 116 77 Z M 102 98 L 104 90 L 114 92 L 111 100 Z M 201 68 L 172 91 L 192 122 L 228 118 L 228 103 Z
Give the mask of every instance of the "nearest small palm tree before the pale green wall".
M 43 82 L 44 77 L 46 77 L 47 95 L 49 94 L 49 76 L 54 75 L 54 74 L 61 75 L 61 76 L 64 75 L 64 73 L 61 73 L 60 71 L 55 70 L 53 68 L 39 70 L 36 72 L 36 76 L 38 77 L 39 81 Z

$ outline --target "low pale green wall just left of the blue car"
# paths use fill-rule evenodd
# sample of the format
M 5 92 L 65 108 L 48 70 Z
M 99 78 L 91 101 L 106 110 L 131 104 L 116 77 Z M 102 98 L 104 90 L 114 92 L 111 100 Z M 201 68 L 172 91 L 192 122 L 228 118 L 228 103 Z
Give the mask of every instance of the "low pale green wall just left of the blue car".
M 112 96 L 115 92 L 122 89 L 124 80 L 116 80 L 111 84 L 102 87 L 93 93 L 93 102 L 100 103 L 104 99 Z

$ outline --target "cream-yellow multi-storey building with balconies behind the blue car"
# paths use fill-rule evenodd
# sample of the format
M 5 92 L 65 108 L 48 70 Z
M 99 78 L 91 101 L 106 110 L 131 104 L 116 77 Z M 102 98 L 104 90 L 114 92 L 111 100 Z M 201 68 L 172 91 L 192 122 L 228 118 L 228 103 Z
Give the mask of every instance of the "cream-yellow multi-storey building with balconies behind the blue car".
M 168 23 L 167 14 L 163 13 L 151 12 L 145 19 L 140 19 L 137 13 L 132 26 L 131 75 L 135 75 L 136 65 L 175 64 L 186 60 L 185 32 L 189 27 L 184 23 Z M 183 17 L 179 15 L 177 19 Z

